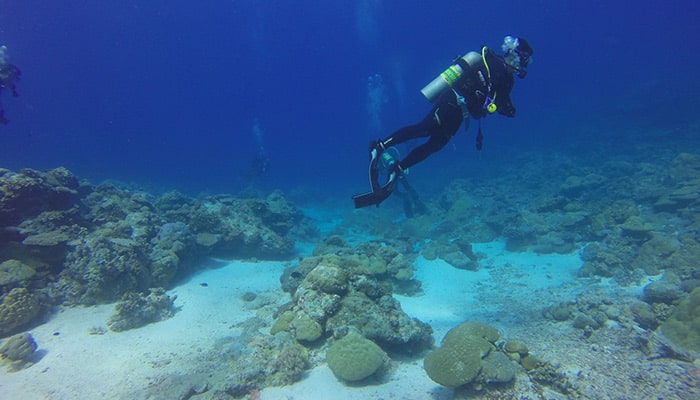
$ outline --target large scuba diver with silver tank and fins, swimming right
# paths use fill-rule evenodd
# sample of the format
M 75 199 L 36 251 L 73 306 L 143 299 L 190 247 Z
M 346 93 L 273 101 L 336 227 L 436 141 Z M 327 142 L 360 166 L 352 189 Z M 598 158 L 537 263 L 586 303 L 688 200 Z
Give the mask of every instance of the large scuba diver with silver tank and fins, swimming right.
M 355 208 L 379 206 L 391 195 L 408 168 L 445 147 L 465 118 L 471 116 L 480 121 L 495 112 L 506 117 L 515 116 L 515 107 L 510 99 L 515 84 L 513 75 L 525 78 L 534 50 L 527 40 L 514 36 L 506 36 L 501 49 L 503 56 L 482 46 L 480 52 L 471 51 L 457 57 L 452 66 L 421 90 L 434 104 L 421 122 L 403 127 L 387 139 L 370 143 L 369 178 L 372 191 L 353 196 Z M 386 183 L 380 184 L 380 156 L 392 146 L 424 137 L 428 138 L 425 143 L 389 166 Z M 479 126 L 477 150 L 481 150 L 482 146 L 483 134 Z

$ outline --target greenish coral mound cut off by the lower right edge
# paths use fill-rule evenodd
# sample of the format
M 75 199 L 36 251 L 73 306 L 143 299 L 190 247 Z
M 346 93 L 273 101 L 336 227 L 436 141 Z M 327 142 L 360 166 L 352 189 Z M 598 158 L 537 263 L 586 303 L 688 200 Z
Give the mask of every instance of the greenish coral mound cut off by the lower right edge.
M 678 305 L 661 330 L 675 344 L 693 352 L 700 352 L 700 288 Z

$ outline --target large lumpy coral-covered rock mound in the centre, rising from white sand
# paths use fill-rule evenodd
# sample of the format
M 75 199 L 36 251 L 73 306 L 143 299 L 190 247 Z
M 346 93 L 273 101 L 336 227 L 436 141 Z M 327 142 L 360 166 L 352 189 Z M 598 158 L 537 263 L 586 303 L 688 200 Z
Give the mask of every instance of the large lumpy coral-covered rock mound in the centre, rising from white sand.
M 410 318 L 391 296 L 397 276 L 402 282 L 413 281 L 413 266 L 402 253 L 375 242 L 353 249 L 339 237 L 330 238 L 315 253 L 319 255 L 306 257 L 282 273 L 283 288 L 293 293 L 294 317 L 290 320 L 290 313 L 281 314 L 275 332 L 312 328 L 303 330 L 312 334 L 305 333 L 301 340 L 309 341 L 356 330 L 385 349 L 404 353 L 432 345 L 430 326 Z M 314 323 L 302 324 L 309 320 Z

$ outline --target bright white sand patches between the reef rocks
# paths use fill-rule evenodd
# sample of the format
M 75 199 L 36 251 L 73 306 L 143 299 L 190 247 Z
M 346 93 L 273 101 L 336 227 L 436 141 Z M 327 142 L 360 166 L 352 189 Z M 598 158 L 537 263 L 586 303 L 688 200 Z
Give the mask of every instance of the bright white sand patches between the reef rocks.
M 549 296 L 546 304 L 551 304 L 550 297 L 558 293 L 553 289 L 570 285 L 580 267 L 577 255 L 512 254 L 498 243 L 474 250 L 487 255 L 479 271 L 421 258 L 417 278 L 424 294 L 397 296 L 408 314 L 433 327 L 437 343 L 465 320 L 504 330 L 525 318 L 527 310 L 540 313 L 542 296 Z M 240 333 L 234 325 L 255 315 L 241 300 L 243 293 L 275 291 L 284 296 L 279 289 L 283 268 L 283 263 L 232 262 L 202 271 L 169 292 L 178 296 L 175 304 L 181 307 L 173 318 L 121 333 L 89 334 L 91 328 L 105 326 L 113 305 L 64 310 L 30 331 L 43 354 L 37 364 L 16 373 L 0 372 L 0 399 L 123 399 L 166 371 L 192 371 L 217 339 Z M 338 382 L 322 364 L 294 385 L 263 390 L 261 398 L 450 399 L 452 390 L 432 382 L 418 358 L 395 362 L 381 383 L 364 387 Z

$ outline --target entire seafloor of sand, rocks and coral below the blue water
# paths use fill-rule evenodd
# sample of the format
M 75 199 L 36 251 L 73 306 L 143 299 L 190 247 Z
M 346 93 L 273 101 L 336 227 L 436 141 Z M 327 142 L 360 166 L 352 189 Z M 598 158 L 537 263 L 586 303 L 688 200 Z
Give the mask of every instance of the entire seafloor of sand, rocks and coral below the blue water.
M 0 169 L 0 398 L 700 398 L 673 134 L 523 150 L 409 215 Z

